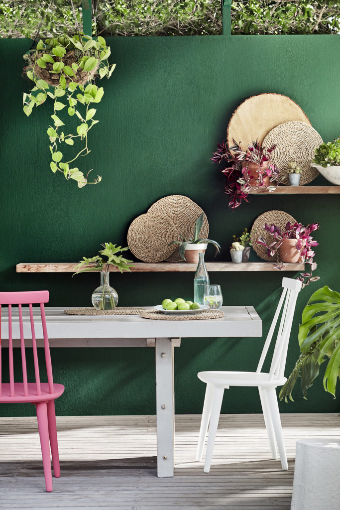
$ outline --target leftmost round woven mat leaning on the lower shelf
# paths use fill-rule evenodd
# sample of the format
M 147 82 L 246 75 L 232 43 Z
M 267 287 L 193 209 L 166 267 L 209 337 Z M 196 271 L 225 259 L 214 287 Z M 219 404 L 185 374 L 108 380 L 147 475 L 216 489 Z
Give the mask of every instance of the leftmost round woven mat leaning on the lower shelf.
M 164 214 L 147 213 L 138 216 L 129 226 L 127 244 L 137 259 L 144 262 L 162 262 L 176 249 L 169 246 L 179 239 L 175 224 Z

